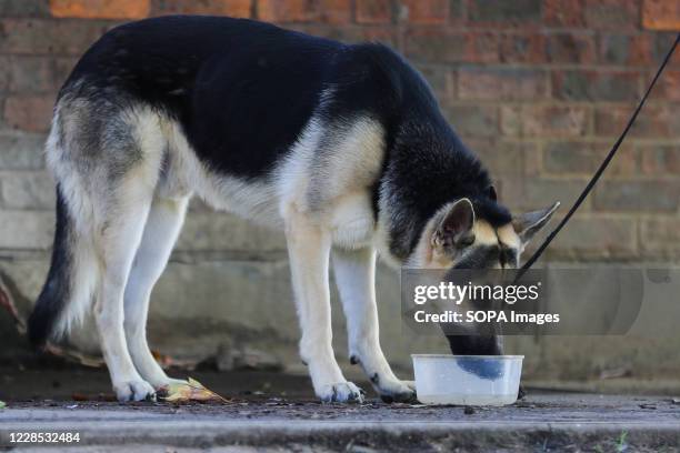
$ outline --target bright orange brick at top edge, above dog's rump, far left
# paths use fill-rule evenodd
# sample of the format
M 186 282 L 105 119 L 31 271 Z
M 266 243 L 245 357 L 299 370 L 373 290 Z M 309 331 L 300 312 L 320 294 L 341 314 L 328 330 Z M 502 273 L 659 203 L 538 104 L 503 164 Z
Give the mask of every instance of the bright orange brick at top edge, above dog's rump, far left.
M 149 9 L 150 0 L 50 0 L 56 18 L 142 19 Z

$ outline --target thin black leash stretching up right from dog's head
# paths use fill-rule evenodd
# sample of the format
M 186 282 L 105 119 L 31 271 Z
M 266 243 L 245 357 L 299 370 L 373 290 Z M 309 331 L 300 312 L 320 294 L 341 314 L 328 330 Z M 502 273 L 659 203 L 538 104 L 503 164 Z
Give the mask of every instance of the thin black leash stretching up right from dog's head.
M 567 222 L 569 222 L 569 220 L 571 219 L 573 213 L 577 211 L 577 209 L 579 209 L 579 207 L 581 205 L 583 200 L 586 200 L 586 197 L 588 197 L 588 194 L 590 193 L 592 188 L 598 183 L 598 180 L 600 179 L 600 177 L 602 175 L 602 173 L 604 172 L 604 170 L 609 165 L 609 162 L 611 162 L 611 160 L 613 159 L 613 157 L 617 153 L 617 151 L 619 151 L 619 147 L 621 145 L 621 143 L 623 143 L 623 140 L 626 139 L 626 135 L 628 134 L 628 131 L 630 131 L 630 128 L 632 128 L 633 123 L 638 119 L 638 114 L 640 113 L 640 110 L 642 110 L 642 105 L 644 105 L 644 101 L 647 101 L 647 98 L 649 97 L 649 93 L 651 92 L 652 88 L 654 88 L 654 84 L 657 83 L 657 80 L 659 80 L 659 77 L 661 76 L 661 72 L 663 72 L 663 69 L 668 64 L 671 56 L 673 54 L 673 51 L 678 47 L 678 42 L 680 42 L 680 33 L 678 33 L 678 36 L 676 37 L 676 42 L 673 42 L 673 46 L 670 48 L 670 50 L 666 54 L 666 58 L 663 59 L 663 62 L 661 63 L 661 66 L 659 67 L 659 70 L 657 71 L 657 74 L 654 76 L 654 78 L 652 79 L 651 83 L 649 84 L 649 88 L 647 89 L 647 92 L 644 93 L 644 95 L 640 100 L 640 103 L 638 104 L 638 108 L 633 112 L 632 117 L 630 117 L 630 120 L 628 120 L 628 124 L 626 124 L 626 129 L 623 129 L 623 132 L 621 133 L 621 135 L 619 137 L 617 142 L 613 144 L 611 150 L 609 151 L 609 154 L 607 154 L 607 158 L 604 158 L 604 160 L 602 161 L 602 163 L 600 164 L 598 170 L 594 172 L 594 174 L 592 175 L 592 178 L 590 179 L 590 181 L 586 185 L 586 189 L 583 189 L 583 191 L 581 192 L 581 194 L 579 195 L 577 201 L 573 203 L 573 205 L 571 207 L 569 212 L 567 213 L 567 215 L 564 215 L 564 218 L 561 220 L 560 224 L 558 224 L 556 226 L 556 229 L 552 230 L 550 232 L 550 234 L 548 234 L 548 238 L 546 238 L 546 240 L 543 241 L 541 246 L 539 246 L 538 250 L 536 252 L 533 252 L 533 255 L 531 255 L 531 258 L 524 263 L 524 265 L 522 265 L 522 268 L 518 272 L 516 281 L 519 280 L 524 274 L 524 272 L 527 272 L 529 270 L 529 268 L 531 268 L 533 265 L 533 263 L 536 263 L 536 261 L 541 256 L 541 254 L 543 254 L 543 251 L 546 251 L 548 245 L 550 245 L 550 242 L 552 242 L 554 236 L 558 235 L 558 233 L 562 230 L 562 228 L 564 228 L 564 225 L 567 224 Z

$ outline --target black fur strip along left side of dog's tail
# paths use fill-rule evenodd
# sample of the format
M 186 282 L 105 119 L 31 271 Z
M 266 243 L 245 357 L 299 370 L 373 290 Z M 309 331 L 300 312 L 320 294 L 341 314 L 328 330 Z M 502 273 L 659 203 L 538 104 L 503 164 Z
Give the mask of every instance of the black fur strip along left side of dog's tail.
M 43 346 L 53 333 L 54 323 L 70 296 L 72 254 L 70 245 L 70 221 L 67 205 L 57 185 L 57 228 L 54 246 L 47 282 L 38 296 L 28 323 L 29 340 L 34 346 Z

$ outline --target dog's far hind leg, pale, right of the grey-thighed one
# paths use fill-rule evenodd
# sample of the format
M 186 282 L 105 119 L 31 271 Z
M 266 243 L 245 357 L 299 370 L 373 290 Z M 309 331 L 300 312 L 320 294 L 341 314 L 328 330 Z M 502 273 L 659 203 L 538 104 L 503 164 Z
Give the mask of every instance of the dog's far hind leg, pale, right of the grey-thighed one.
M 154 389 L 170 382 L 147 343 L 147 315 L 153 285 L 166 269 L 187 212 L 188 197 L 160 198 L 151 204 L 124 294 L 124 330 L 137 371 Z

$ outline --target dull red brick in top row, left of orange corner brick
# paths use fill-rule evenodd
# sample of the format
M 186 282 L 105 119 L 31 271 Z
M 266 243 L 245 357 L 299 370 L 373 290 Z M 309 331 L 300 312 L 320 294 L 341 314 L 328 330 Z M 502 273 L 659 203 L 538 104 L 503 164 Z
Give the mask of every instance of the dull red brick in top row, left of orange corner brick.
M 593 29 L 637 29 L 639 0 L 586 0 L 586 23 Z

